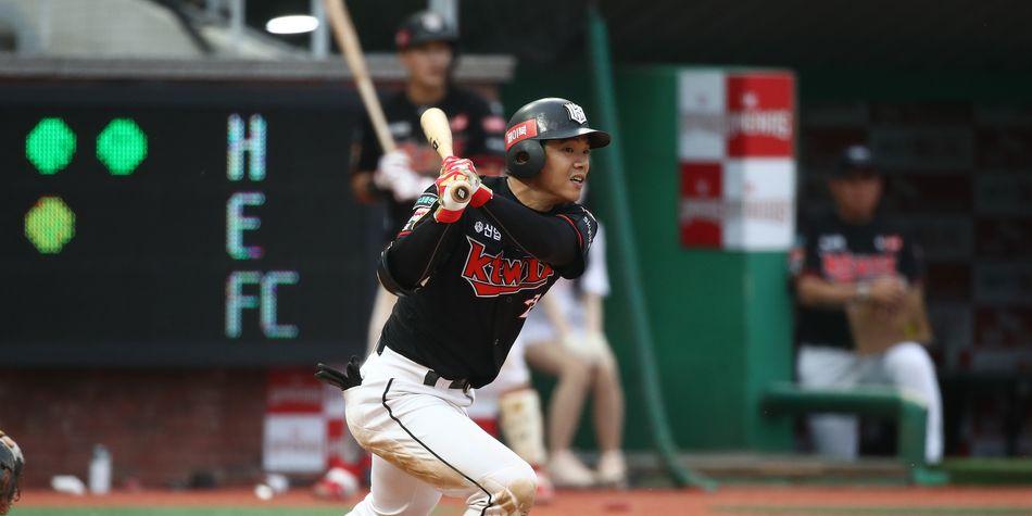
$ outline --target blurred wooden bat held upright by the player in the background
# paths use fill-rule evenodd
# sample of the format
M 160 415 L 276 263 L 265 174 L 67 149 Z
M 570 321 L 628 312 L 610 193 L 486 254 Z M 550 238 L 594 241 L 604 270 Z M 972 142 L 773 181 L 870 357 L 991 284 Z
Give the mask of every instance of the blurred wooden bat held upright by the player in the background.
M 373 79 L 365 65 L 362 46 L 358 43 L 358 35 L 351 22 L 351 15 L 348 14 L 343 0 L 323 0 L 323 4 L 326 7 L 326 17 L 333 28 L 333 38 L 340 47 L 348 67 L 351 68 L 351 74 L 355 77 L 358 97 L 362 98 L 365 111 L 373 122 L 373 130 L 376 133 L 377 141 L 380 142 L 380 149 L 383 149 L 385 153 L 391 152 L 398 147 L 387 128 L 387 117 L 383 116 L 383 108 L 380 106 L 380 99 L 376 96 L 376 88 L 373 87 Z

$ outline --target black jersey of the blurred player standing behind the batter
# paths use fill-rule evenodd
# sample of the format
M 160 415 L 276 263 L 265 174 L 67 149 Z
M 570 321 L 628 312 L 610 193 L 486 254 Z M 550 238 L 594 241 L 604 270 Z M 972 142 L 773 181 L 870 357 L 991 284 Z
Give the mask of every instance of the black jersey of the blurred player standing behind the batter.
M 448 114 L 455 155 L 469 159 L 477 166 L 490 162 L 499 165 L 503 163 L 505 119 L 502 117 L 502 108 L 496 102 L 488 103 L 468 89 L 451 87 L 441 102 L 416 105 L 408 100 L 404 91 L 400 91 L 383 102 L 383 116 L 398 147 L 412 156 L 413 171 L 430 177 L 437 177 L 440 172 L 441 159 L 427 143 L 419 126 L 419 116 L 430 108 L 440 108 Z M 353 172 L 376 171 L 382 154 L 383 150 L 367 118 L 362 127 L 361 149 Z M 381 192 L 380 197 L 387 201 L 383 229 L 385 241 L 389 241 L 408 218 L 412 200 L 397 201 L 390 192 Z

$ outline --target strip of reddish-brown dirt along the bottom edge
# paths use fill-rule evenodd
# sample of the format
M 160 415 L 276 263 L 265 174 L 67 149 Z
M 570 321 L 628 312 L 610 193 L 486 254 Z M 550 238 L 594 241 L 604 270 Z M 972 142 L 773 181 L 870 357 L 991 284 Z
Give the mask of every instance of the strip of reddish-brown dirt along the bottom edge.
M 320 508 L 340 513 L 354 502 L 327 502 L 306 491 L 292 491 L 263 502 L 250 490 L 118 492 L 108 496 L 68 496 L 28 491 L 18 508 L 47 514 L 43 508 L 67 507 L 249 507 Z M 461 501 L 444 499 L 435 515 L 462 514 Z M 281 511 L 279 511 L 281 509 Z M 262 514 L 268 512 L 261 511 Z M 198 514 L 203 514 L 200 511 Z M 1032 488 L 813 488 L 729 487 L 714 493 L 699 491 L 564 491 L 549 505 L 534 507 L 536 516 L 669 516 L 669 515 L 1032 515 Z

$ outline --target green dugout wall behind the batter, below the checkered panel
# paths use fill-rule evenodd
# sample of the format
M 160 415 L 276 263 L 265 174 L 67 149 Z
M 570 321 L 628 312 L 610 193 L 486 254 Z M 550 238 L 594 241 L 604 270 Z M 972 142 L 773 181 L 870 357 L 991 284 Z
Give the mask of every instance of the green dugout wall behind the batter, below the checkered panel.
M 791 306 L 784 252 L 690 250 L 680 243 L 678 223 L 678 73 L 651 66 L 616 73 L 625 169 L 632 213 L 614 213 L 606 188 L 605 150 L 594 154 L 591 209 L 604 224 L 617 217 L 633 224 L 649 320 L 666 411 L 677 444 L 697 450 L 772 450 L 791 444 L 791 423 L 760 414 L 760 391 L 792 377 Z M 565 73 L 520 70 L 502 88 L 506 112 L 540 97 L 565 97 L 584 105 L 592 118 L 594 99 L 586 70 Z M 613 129 L 606 127 L 605 129 Z M 612 246 L 612 243 L 611 243 Z M 612 266 L 613 294 L 606 330 L 620 361 L 627 395 L 626 448 L 651 446 L 641 405 L 639 374 L 629 348 L 631 328 L 627 286 Z M 551 380 L 539 381 L 545 394 Z M 590 403 L 589 410 L 590 414 Z M 593 448 L 590 417 L 578 445 Z

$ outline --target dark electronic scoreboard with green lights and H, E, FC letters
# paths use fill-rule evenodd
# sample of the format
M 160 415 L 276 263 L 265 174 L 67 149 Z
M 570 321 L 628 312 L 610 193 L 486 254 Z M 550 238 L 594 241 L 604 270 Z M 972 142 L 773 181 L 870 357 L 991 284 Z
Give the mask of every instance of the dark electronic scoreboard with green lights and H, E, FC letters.
M 0 83 L 0 367 L 361 353 L 361 115 L 329 87 Z

